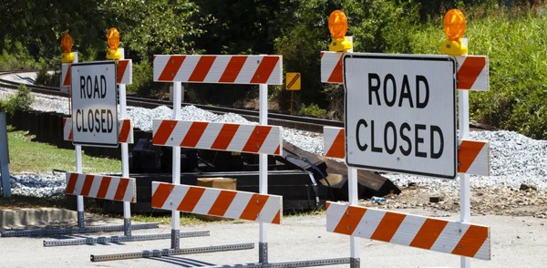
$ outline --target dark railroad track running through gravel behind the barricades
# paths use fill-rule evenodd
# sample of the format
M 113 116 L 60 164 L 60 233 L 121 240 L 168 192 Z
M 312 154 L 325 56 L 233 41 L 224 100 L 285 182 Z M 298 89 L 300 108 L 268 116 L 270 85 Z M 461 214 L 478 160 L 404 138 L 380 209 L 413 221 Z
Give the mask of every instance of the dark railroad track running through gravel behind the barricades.
M 21 70 L 21 71 L 1 72 L 0 77 L 7 74 L 24 73 L 24 72 L 30 72 L 30 71 Z M 19 82 L 14 82 L 14 81 L 0 78 L 0 88 L 16 89 L 16 88 L 19 88 L 20 85 L 21 83 Z M 65 98 L 68 97 L 67 93 L 61 92 L 60 89 L 56 87 L 46 87 L 46 86 L 38 86 L 38 85 L 31 85 L 31 84 L 26 84 L 26 87 L 31 88 L 31 90 L 35 93 L 41 93 L 41 94 L 53 95 L 53 96 L 59 96 L 59 97 L 65 97 Z M 127 102 L 129 106 L 133 106 L 133 107 L 157 108 L 160 106 L 167 106 L 169 108 L 172 108 L 171 101 L 160 100 L 160 99 L 127 96 Z M 193 105 L 196 108 L 201 108 L 204 110 L 211 111 L 216 114 L 225 114 L 225 113 L 239 114 L 243 118 L 248 119 L 250 121 L 258 121 L 258 118 L 259 118 L 259 112 L 252 109 L 212 107 L 207 105 L 192 104 L 192 103 L 185 103 L 185 102 L 181 104 L 182 107 L 190 106 L 190 105 Z M 275 112 L 268 113 L 268 123 L 272 125 L 276 125 L 276 126 L 291 128 L 291 129 L 300 129 L 300 130 L 321 132 L 321 133 L 323 132 L 324 126 L 344 128 L 344 122 L 342 121 L 291 116 L 291 115 L 285 115 L 285 114 L 275 113 Z

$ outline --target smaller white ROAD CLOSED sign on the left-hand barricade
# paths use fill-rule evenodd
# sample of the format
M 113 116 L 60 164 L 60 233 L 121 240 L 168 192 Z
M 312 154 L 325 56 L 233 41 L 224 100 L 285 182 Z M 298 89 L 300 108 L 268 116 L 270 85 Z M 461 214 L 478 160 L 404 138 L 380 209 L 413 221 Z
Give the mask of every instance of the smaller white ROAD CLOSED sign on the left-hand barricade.
M 72 142 L 118 147 L 116 63 L 75 63 L 71 70 Z

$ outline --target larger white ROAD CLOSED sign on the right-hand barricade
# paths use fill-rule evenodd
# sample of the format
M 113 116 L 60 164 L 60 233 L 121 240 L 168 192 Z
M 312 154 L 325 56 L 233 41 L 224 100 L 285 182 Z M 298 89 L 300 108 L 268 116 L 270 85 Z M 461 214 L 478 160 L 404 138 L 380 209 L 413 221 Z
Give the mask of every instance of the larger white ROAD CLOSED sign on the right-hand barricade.
M 447 56 L 347 54 L 347 165 L 456 178 L 455 77 Z

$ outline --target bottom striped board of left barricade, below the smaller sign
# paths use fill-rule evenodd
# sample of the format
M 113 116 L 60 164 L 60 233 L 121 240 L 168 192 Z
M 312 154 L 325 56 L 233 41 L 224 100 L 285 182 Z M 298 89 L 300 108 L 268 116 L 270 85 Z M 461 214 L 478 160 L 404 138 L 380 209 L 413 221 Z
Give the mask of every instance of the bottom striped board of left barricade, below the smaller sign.
M 137 201 L 135 179 L 67 172 L 67 194 L 111 201 Z

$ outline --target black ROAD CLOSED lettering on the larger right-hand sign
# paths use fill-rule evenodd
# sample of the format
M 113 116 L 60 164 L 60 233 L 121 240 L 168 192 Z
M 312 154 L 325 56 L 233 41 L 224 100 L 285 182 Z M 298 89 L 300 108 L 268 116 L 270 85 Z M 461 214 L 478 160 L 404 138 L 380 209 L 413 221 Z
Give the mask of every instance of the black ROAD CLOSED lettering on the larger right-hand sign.
M 364 101 L 369 106 L 428 108 L 429 84 L 425 76 L 395 77 L 369 73 Z M 427 143 L 427 144 L 426 144 Z M 444 149 L 444 134 L 436 125 L 396 123 L 393 120 L 358 119 L 356 145 L 361 151 L 439 159 Z

